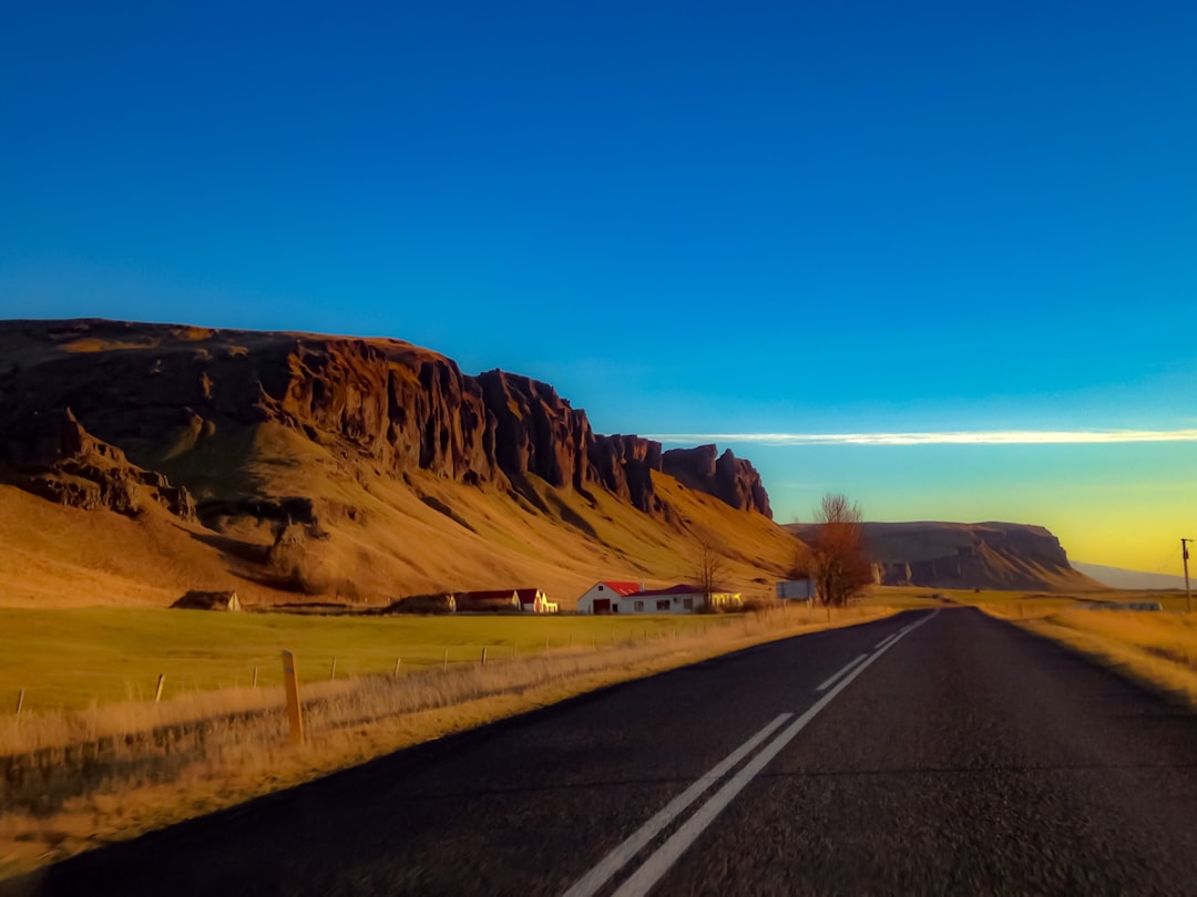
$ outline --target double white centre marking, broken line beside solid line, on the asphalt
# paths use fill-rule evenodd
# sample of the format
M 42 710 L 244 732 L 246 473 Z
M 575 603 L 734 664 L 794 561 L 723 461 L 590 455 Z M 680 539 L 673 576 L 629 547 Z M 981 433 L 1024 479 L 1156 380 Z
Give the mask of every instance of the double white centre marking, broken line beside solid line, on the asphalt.
M 893 641 L 891 641 L 885 647 L 877 648 L 876 651 L 874 651 L 873 654 L 868 654 L 864 661 L 857 664 L 853 669 L 851 669 L 847 672 L 847 675 L 840 679 L 838 685 L 832 688 L 831 691 L 828 691 L 826 695 L 815 701 L 815 703 L 810 707 L 809 710 L 803 713 L 801 716 L 798 716 L 798 719 L 796 719 L 794 722 L 786 726 L 780 734 L 778 734 L 772 742 L 765 745 L 765 748 L 761 749 L 761 751 L 755 757 L 753 757 L 748 763 L 746 763 L 743 769 L 741 769 L 739 773 L 733 775 L 727 782 L 724 782 L 723 787 L 721 787 L 717 792 L 715 792 L 715 794 L 712 794 L 711 798 L 707 799 L 707 801 L 703 804 L 694 812 L 694 814 L 691 816 L 689 819 L 687 819 L 681 825 L 681 828 L 679 828 L 673 835 L 670 835 L 660 848 L 652 852 L 649 855 L 649 858 L 640 865 L 640 867 L 636 869 L 636 872 L 633 872 L 632 875 L 626 881 L 624 881 L 622 885 L 620 885 L 620 887 L 615 891 L 614 897 L 644 897 L 644 895 L 646 895 L 652 889 L 652 886 L 656 885 L 656 883 L 664 877 L 664 874 L 673 867 L 673 865 L 678 862 L 681 855 L 686 853 L 686 850 L 689 848 L 691 844 L 694 843 L 698 836 L 701 835 L 706 830 L 706 828 L 712 822 L 715 822 L 716 817 L 718 817 L 718 814 L 727 808 L 728 804 L 730 804 L 733 799 L 735 799 L 735 797 L 741 791 L 743 791 L 745 787 L 753 779 L 755 779 L 757 775 L 766 765 L 768 765 L 770 761 L 772 761 L 778 753 L 780 753 L 782 749 L 784 749 L 790 742 L 794 740 L 795 736 L 797 736 L 798 732 L 801 732 L 803 728 L 807 727 L 807 724 L 809 724 L 810 720 L 818 716 L 819 713 L 827 704 L 830 704 L 832 701 L 836 700 L 836 696 L 839 695 L 840 691 L 846 689 L 852 683 L 852 681 L 856 679 L 857 676 L 868 670 L 869 666 L 871 666 L 877 660 L 877 658 L 880 658 L 882 654 L 889 651 L 889 648 L 897 645 L 906 634 L 923 626 L 923 623 L 928 622 L 929 620 L 935 618 L 938 615 L 938 612 L 940 612 L 938 610 L 934 610 L 931 611 L 931 614 L 923 617 L 917 623 L 912 623 L 911 626 L 905 627 Z M 724 759 L 715 769 L 707 773 L 706 776 L 703 776 L 701 780 L 692 785 L 683 794 L 679 795 L 673 801 L 670 801 L 670 804 L 664 810 L 657 813 L 657 816 L 652 817 L 652 819 L 645 823 L 639 831 L 632 835 L 632 837 L 627 838 L 627 841 L 625 841 L 622 844 L 616 847 L 615 850 L 608 854 L 602 861 L 600 861 L 597 866 L 595 866 L 582 879 L 579 879 L 578 883 L 573 885 L 573 887 L 566 891 L 565 892 L 566 897 L 582 897 L 582 895 L 589 896 L 595 893 L 600 887 L 602 887 L 603 884 L 609 881 L 614 874 L 616 874 L 624 866 L 626 866 L 627 862 L 631 861 L 631 859 L 645 844 L 648 844 L 649 841 L 651 841 L 655 835 L 661 832 L 661 830 L 666 826 L 667 823 L 662 822 L 657 824 L 658 817 L 664 816 L 664 813 L 669 811 L 675 803 L 679 803 L 683 797 L 686 797 L 686 794 L 689 794 L 691 791 L 698 789 L 694 797 L 692 797 L 689 800 L 686 801 L 685 806 L 688 806 L 691 803 L 693 803 L 693 800 L 697 797 L 699 797 L 704 791 L 706 791 L 706 788 L 710 786 L 710 782 L 707 782 L 701 788 L 699 788 L 699 783 L 703 780 L 707 779 L 709 776 L 712 776 L 716 769 L 719 769 L 721 767 L 723 768 L 723 771 L 719 773 L 719 776 L 722 776 L 723 773 L 730 770 L 739 762 L 740 758 L 746 756 L 752 750 L 752 748 L 755 746 L 755 744 L 767 738 L 770 732 L 772 732 L 772 730 L 776 728 L 777 726 L 782 725 L 782 722 L 784 722 L 785 719 L 788 719 L 790 715 L 792 714 L 782 714 L 780 716 L 778 716 L 776 720 L 768 724 L 768 726 L 766 726 L 764 730 L 761 730 L 751 739 L 748 739 L 748 742 L 745 742 L 743 745 L 741 745 L 739 749 L 728 755 L 727 759 Z M 739 756 L 736 757 L 735 761 L 733 761 L 733 757 L 736 755 Z M 718 779 L 719 776 L 715 777 Z M 675 816 L 678 816 L 679 812 L 680 810 L 673 812 L 669 818 L 670 819 L 674 818 Z M 645 832 L 648 832 L 650 829 L 651 834 L 644 836 Z M 638 843 L 639 847 L 631 849 L 631 846 L 633 843 Z M 583 884 L 587 885 L 585 889 L 583 889 Z

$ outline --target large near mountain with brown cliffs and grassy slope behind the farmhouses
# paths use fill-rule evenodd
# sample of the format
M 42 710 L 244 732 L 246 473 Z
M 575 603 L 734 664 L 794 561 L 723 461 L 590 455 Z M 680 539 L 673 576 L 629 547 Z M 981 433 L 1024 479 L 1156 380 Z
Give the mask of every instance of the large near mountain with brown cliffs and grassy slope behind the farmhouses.
M 620 572 L 672 579 L 695 539 L 742 574 L 786 554 L 748 462 L 595 434 L 548 384 L 472 377 L 397 340 L 0 323 L 0 483 L 174 520 L 263 594 L 382 598 L 546 568 L 582 587 Z M 569 531 L 559 549 L 584 559 L 576 574 L 547 560 L 543 533 L 512 535 L 529 527 Z

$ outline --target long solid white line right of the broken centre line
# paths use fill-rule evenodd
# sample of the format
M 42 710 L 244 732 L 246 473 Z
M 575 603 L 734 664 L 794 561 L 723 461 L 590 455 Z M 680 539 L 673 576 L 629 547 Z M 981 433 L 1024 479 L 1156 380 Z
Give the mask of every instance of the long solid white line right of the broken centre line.
M 903 635 L 913 629 L 917 629 L 926 621 L 934 618 L 938 614 L 938 609 L 931 611 L 929 616 L 923 617 L 917 623 L 907 627 Z M 836 696 L 847 688 L 852 681 L 863 673 L 879 657 L 885 654 L 889 648 L 898 643 L 903 637 L 899 635 L 889 645 L 880 648 L 876 653 L 869 657 L 863 664 L 852 670 L 851 673 L 844 677 L 844 679 L 836 685 L 831 691 L 820 697 L 814 706 L 803 713 L 798 719 L 791 722 L 785 730 L 772 742 L 770 742 L 765 748 L 752 758 L 745 768 L 736 773 L 731 779 L 724 782 L 723 787 L 719 788 L 715 794 L 707 800 L 698 811 L 686 820 L 686 823 L 678 829 L 660 847 L 656 852 L 649 856 L 648 860 L 634 872 L 632 877 L 628 878 L 618 891 L 615 891 L 613 897 L 644 897 L 652 889 L 652 886 L 661 880 L 661 878 L 670 869 L 670 867 L 678 861 L 678 859 L 686 852 L 687 848 L 698 838 L 699 835 L 709 826 L 715 818 L 723 812 L 723 810 L 731 803 L 731 800 L 743 791 L 745 786 L 751 782 L 760 770 L 762 770 L 770 761 L 776 757 L 785 745 L 788 745 L 794 737 L 798 734 L 807 724 L 810 722 L 819 712 L 822 710 L 827 704 L 830 704 Z

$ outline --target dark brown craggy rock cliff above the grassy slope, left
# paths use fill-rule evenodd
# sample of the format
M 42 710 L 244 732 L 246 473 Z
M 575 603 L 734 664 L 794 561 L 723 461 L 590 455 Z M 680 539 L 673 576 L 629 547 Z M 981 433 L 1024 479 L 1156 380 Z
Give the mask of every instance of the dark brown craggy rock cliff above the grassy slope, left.
M 91 440 L 83 456 L 120 453 L 113 464 L 127 469 L 126 478 L 170 470 L 182 486 L 198 483 L 201 477 L 181 460 L 189 452 L 273 422 L 393 476 L 419 469 L 511 488 L 535 475 L 583 495 L 601 486 L 657 513 L 652 472 L 663 470 L 735 508 L 770 514 L 759 475 L 730 451 L 662 453 L 651 440 L 596 435 L 585 413 L 548 384 L 502 371 L 469 377 L 450 359 L 394 340 L 105 321 L 0 324 L 0 464 L 24 471 L 22 482 L 31 482 L 35 468 L 55 464 L 65 476 L 68 456 L 78 466 L 79 452 L 63 450 L 56 460 L 30 454 L 29 440 L 44 435 L 31 421 L 59 420 L 54 415 L 66 409 L 74 409 L 73 426 Z M 162 477 L 152 488 L 169 496 L 178 487 Z M 198 488 L 208 502 L 263 498 L 242 494 L 253 493 L 253 483 L 235 478 L 202 478 Z M 126 504 L 79 501 L 116 509 Z M 162 501 L 189 513 L 189 496 Z

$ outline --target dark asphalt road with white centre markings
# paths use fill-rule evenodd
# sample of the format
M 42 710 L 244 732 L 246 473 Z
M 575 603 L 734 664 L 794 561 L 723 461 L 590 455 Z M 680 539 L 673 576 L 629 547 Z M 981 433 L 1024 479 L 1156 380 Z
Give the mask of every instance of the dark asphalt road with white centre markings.
M 976 610 L 910 612 L 607 689 L 0 885 L 648 892 L 1197 895 L 1197 716 Z

